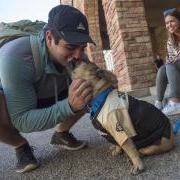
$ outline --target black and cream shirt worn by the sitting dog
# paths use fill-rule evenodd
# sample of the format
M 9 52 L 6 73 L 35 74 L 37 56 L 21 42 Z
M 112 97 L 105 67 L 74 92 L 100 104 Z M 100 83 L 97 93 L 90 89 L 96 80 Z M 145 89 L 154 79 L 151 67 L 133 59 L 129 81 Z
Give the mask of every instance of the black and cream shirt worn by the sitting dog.
M 112 137 L 112 129 L 116 129 L 113 133 L 120 139 L 121 145 L 131 137 L 138 149 L 159 143 L 162 137 L 170 138 L 168 118 L 152 104 L 118 93 L 116 89 L 105 97 L 91 120 L 93 126 L 108 141 L 117 144 L 114 136 Z M 112 126 L 108 129 L 109 123 Z

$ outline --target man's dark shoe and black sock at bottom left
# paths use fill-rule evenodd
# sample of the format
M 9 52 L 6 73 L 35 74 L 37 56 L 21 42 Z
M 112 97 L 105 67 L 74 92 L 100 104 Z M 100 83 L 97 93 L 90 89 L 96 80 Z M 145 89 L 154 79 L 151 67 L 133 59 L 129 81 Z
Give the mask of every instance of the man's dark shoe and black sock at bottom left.
M 39 163 L 33 155 L 29 144 L 24 144 L 16 149 L 17 165 L 16 172 L 25 173 L 39 167 Z

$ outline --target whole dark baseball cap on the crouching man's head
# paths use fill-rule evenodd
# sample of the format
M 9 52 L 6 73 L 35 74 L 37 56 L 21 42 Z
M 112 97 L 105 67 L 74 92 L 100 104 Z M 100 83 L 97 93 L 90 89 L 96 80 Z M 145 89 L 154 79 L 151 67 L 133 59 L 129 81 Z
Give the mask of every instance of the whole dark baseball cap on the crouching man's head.
M 68 5 L 52 8 L 48 15 L 48 28 L 70 44 L 94 43 L 89 35 L 86 16 L 78 9 Z

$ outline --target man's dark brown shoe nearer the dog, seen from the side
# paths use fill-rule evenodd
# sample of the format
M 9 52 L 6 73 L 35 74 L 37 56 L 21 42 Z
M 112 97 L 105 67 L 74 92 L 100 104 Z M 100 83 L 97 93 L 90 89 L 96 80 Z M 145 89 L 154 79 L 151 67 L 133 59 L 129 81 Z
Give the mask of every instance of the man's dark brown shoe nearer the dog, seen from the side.
M 79 150 L 86 146 L 86 142 L 77 140 L 69 132 L 55 132 L 50 143 L 71 151 Z

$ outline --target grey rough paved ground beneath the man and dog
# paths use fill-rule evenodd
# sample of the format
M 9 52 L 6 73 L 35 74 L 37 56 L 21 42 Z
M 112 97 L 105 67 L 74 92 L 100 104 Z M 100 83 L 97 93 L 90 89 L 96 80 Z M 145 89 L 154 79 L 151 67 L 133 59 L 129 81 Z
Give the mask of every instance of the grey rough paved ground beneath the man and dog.
M 180 179 L 180 135 L 176 137 L 176 148 L 173 151 L 143 158 L 146 171 L 134 177 L 129 173 L 130 164 L 124 155 L 115 158 L 111 156 L 110 144 L 93 129 L 88 115 L 85 115 L 72 131 L 76 137 L 86 140 L 89 147 L 74 152 L 53 147 L 49 144 L 53 130 L 25 135 L 30 144 L 35 146 L 35 155 L 42 165 L 36 171 L 24 175 L 13 170 L 14 151 L 9 146 L 0 144 L 0 180 Z

